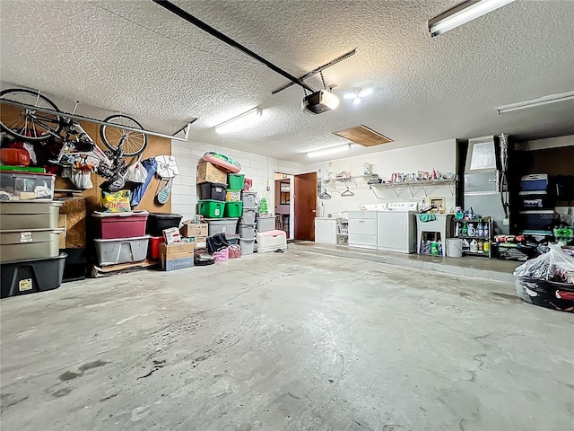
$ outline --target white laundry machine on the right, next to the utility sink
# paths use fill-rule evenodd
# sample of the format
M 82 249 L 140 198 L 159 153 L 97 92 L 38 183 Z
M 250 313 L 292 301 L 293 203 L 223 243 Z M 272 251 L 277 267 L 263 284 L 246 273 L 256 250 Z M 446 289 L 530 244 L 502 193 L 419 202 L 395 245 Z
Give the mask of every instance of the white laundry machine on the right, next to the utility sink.
M 416 252 L 417 202 L 387 204 L 377 212 L 377 249 L 397 253 Z

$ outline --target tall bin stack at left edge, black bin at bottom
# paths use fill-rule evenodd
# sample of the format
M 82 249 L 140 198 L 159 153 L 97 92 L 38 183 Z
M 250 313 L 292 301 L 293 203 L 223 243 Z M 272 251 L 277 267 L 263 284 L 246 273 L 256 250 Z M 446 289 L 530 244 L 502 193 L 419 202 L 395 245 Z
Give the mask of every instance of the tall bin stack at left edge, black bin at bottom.
M 59 252 L 59 208 L 55 175 L 0 172 L 1 297 L 56 289 L 64 277 Z

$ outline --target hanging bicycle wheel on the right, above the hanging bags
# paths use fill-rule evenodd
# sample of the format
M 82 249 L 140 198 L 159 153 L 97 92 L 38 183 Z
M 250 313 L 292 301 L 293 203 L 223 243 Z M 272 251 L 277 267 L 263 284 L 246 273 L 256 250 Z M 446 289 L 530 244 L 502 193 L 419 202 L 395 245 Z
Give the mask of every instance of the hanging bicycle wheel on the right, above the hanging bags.
M 117 125 L 107 126 L 102 124 L 100 126 L 101 140 L 110 150 L 117 151 L 118 148 L 121 148 L 126 157 L 143 153 L 147 145 L 147 136 L 143 132 L 122 128 L 122 126 L 142 128 L 140 123 L 135 121 L 135 119 L 119 114 L 110 115 L 104 121 L 110 125 Z

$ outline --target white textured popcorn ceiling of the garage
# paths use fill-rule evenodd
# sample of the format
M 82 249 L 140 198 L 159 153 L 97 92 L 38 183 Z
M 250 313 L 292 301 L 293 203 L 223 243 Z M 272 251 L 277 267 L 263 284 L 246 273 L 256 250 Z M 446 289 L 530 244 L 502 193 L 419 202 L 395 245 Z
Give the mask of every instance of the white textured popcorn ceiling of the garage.
M 434 39 L 427 20 L 459 0 L 174 3 L 292 75 L 356 47 L 325 72 L 326 82 L 340 95 L 376 91 L 358 106 L 342 100 L 333 112 L 304 114 L 300 87 L 272 96 L 287 84 L 282 76 L 146 0 L 1 1 L 2 81 L 82 101 L 83 113 L 95 112 L 85 105 L 126 112 L 161 132 L 198 117 L 193 140 L 300 163 L 309 150 L 344 142 L 331 132 L 357 124 L 395 140 L 384 149 L 500 132 L 574 133 L 572 102 L 496 113 L 574 90 L 569 0 L 518 0 Z M 320 80 L 308 84 L 318 89 Z M 265 114 L 257 126 L 214 133 L 255 106 Z

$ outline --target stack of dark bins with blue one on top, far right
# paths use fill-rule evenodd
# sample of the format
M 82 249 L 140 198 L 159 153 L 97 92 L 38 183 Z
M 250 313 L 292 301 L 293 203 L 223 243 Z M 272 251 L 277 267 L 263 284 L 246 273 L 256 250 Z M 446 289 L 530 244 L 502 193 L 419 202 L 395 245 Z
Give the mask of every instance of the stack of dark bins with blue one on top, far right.
M 522 191 L 518 193 L 522 207 L 518 212 L 518 228 L 521 234 L 552 236 L 557 215 L 548 184 L 548 175 L 545 173 L 522 177 Z

